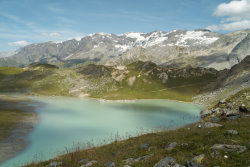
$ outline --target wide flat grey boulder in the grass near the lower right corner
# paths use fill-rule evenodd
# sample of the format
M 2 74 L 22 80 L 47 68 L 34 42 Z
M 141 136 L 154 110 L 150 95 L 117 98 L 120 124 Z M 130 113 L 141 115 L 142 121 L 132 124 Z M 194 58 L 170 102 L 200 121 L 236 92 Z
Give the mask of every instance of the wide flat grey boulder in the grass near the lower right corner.
M 242 153 L 244 152 L 247 148 L 245 146 L 240 146 L 240 145 L 228 145 L 228 144 L 214 144 L 211 149 L 215 150 L 224 150 L 227 152 L 238 152 Z

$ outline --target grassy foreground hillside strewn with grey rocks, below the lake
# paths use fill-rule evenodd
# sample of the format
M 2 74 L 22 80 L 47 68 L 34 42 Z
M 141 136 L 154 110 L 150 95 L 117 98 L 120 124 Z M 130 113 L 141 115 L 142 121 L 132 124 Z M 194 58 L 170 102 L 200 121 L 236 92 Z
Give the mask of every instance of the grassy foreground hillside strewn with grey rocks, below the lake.
M 235 167 L 250 165 L 250 89 L 201 112 L 202 120 L 27 167 Z

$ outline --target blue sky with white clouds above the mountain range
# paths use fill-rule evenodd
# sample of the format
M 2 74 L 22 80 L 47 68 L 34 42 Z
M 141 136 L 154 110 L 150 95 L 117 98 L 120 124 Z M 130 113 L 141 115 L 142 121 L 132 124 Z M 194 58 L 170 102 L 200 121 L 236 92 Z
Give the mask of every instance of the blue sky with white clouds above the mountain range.
M 0 0 L 0 52 L 96 32 L 250 28 L 250 0 Z

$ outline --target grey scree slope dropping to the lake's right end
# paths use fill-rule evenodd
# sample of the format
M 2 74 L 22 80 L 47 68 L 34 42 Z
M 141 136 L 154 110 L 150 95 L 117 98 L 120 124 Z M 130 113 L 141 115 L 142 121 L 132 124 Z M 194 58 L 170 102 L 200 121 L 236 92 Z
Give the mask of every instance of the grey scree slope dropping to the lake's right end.
M 209 83 L 205 92 L 193 98 L 194 102 L 205 106 L 236 94 L 250 85 L 250 56 L 247 56 L 239 64 L 230 70 L 222 70 L 216 82 Z

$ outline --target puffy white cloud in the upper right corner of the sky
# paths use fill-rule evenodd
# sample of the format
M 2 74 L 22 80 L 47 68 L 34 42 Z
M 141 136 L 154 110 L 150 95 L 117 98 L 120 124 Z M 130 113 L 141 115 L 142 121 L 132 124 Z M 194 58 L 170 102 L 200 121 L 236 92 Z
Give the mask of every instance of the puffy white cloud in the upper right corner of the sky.
M 231 1 L 217 6 L 213 13 L 221 24 L 208 26 L 212 31 L 235 31 L 250 28 L 250 0 Z

